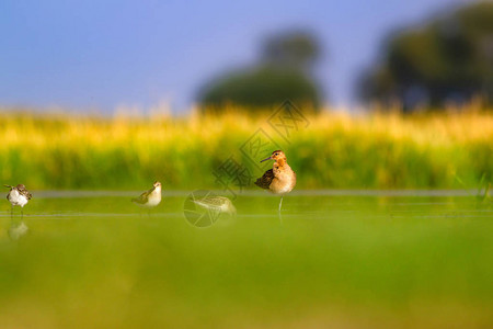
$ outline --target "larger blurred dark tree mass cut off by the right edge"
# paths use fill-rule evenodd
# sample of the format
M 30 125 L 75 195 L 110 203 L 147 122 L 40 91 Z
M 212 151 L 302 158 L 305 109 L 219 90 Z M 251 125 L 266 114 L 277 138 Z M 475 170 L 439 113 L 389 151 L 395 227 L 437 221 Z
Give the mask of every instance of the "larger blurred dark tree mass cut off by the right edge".
M 359 97 L 404 110 L 493 103 L 493 2 L 473 2 L 388 38 L 380 61 L 363 75 Z

